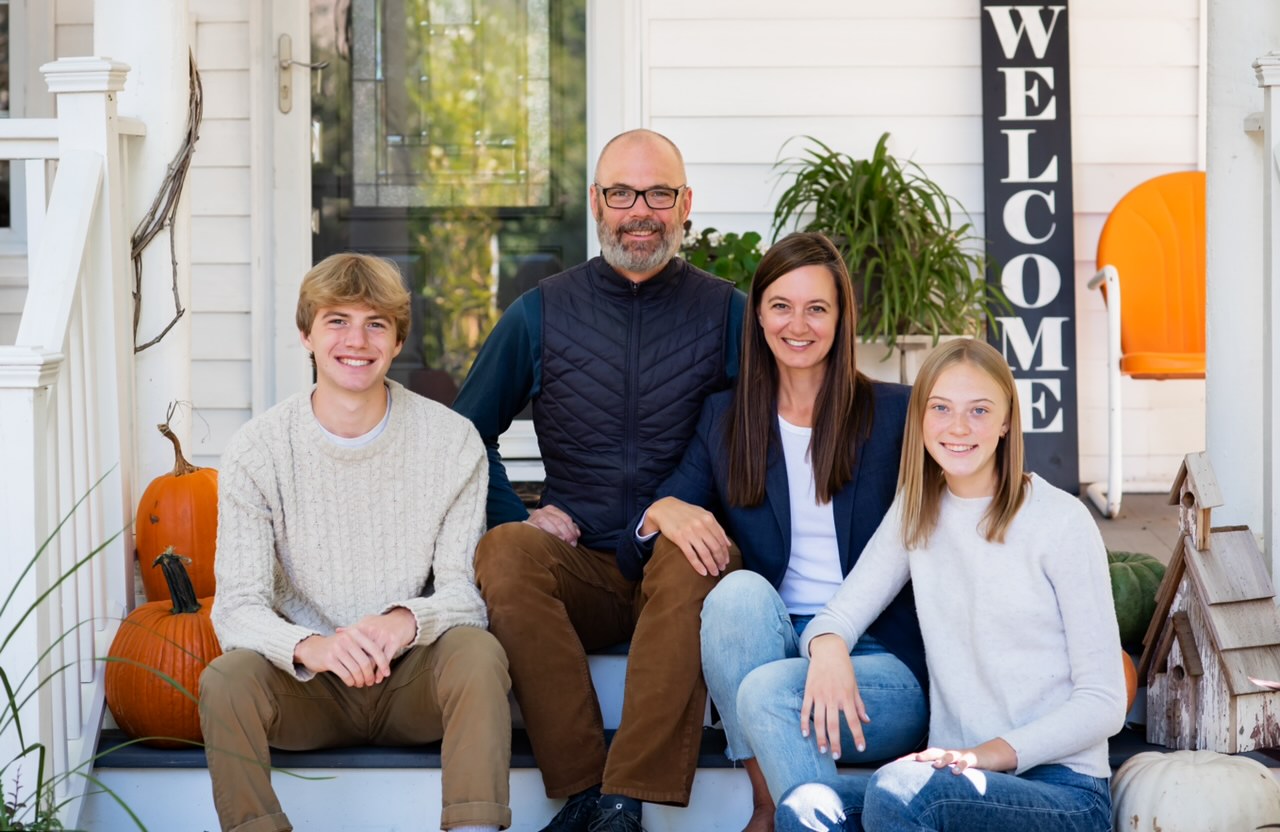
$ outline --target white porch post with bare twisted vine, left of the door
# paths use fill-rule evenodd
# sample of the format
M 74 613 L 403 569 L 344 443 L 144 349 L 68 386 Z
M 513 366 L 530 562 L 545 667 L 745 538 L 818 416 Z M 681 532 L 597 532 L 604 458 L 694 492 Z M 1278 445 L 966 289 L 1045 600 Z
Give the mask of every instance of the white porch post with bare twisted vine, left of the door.
M 120 113 L 141 120 L 147 129 L 143 140 L 131 141 L 125 147 L 129 189 L 124 216 L 125 230 L 131 234 L 155 200 L 186 137 L 191 49 L 187 5 L 187 0 L 96 0 L 93 4 L 93 50 L 132 67 L 120 92 Z M 174 227 L 163 230 L 142 255 L 136 343 L 151 340 L 173 320 L 174 282 L 186 312 L 160 343 L 136 358 L 133 424 L 140 490 L 152 477 L 173 468 L 173 448 L 156 433 L 155 425 L 164 421 L 169 402 L 191 402 L 191 210 L 187 189 L 189 180 L 178 202 Z M 132 287 L 132 271 L 129 283 Z M 173 429 L 182 443 L 191 447 L 191 420 L 175 419 Z M 128 495 L 131 500 L 137 497 L 138 493 Z

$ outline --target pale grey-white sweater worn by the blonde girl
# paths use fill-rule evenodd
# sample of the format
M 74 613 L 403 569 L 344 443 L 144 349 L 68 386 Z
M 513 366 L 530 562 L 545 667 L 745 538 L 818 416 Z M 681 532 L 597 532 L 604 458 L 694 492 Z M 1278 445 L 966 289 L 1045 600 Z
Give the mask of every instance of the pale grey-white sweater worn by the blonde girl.
M 929 745 L 1004 737 L 1018 773 L 1059 763 L 1107 777 L 1125 682 L 1102 535 L 1080 500 L 1033 476 L 1005 543 L 988 543 L 978 524 L 989 502 L 946 493 L 928 547 L 908 552 L 895 500 L 805 628 L 801 655 L 824 632 L 854 644 L 910 579 L 929 668 Z

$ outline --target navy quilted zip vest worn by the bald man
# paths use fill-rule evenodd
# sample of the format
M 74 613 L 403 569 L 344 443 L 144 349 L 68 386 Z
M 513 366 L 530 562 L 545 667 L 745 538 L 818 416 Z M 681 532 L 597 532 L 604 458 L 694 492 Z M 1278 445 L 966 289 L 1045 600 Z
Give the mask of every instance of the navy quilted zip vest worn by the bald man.
M 613 552 L 680 462 L 703 399 L 724 389 L 733 285 L 676 257 L 631 283 L 600 257 L 547 278 L 534 428 L 544 506 Z

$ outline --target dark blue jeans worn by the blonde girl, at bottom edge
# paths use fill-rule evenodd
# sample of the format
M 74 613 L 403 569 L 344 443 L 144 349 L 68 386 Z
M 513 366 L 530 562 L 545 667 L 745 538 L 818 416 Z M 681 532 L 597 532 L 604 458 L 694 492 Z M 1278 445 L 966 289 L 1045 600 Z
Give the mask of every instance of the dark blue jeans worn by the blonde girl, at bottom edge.
M 1110 832 L 1105 777 L 1066 765 L 1021 774 L 890 763 L 870 777 L 804 783 L 778 804 L 774 832 Z

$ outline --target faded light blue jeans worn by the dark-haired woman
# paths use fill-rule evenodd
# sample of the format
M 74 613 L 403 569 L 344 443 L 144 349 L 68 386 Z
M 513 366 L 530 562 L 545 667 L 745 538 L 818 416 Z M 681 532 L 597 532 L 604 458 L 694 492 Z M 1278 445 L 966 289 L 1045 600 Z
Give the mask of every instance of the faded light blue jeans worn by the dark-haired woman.
M 809 659 L 797 658 L 799 631 L 808 622 L 792 621 L 777 590 L 746 570 L 721 579 L 703 603 L 703 675 L 724 724 L 726 755 L 755 756 L 774 801 L 797 783 L 836 776 L 831 755 L 800 733 Z M 872 722 L 863 726 L 863 753 L 841 722 L 841 760 L 865 765 L 915 750 L 928 732 L 915 675 L 870 636 L 858 641 L 852 659 Z

